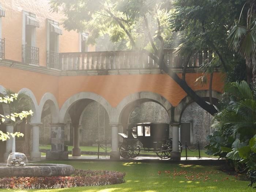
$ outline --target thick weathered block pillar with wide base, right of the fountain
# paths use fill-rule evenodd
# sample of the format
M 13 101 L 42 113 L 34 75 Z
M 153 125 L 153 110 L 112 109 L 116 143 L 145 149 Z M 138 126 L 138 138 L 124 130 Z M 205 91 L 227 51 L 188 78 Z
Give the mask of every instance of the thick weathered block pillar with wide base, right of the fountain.
M 46 159 L 68 159 L 68 151 L 64 151 L 64 124 L 51 124 L 52 149 L 46 151 Z

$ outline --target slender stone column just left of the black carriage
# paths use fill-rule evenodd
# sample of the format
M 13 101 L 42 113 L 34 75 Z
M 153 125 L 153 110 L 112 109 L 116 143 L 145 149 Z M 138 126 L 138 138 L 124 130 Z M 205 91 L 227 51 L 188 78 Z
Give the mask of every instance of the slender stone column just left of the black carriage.
M 111 153 L 110 159 L 120 159 L 120 153 L 118 151 L 118 125 L 117 123 L 109 124 L 112 128 L 112 138 L 111 138 Z

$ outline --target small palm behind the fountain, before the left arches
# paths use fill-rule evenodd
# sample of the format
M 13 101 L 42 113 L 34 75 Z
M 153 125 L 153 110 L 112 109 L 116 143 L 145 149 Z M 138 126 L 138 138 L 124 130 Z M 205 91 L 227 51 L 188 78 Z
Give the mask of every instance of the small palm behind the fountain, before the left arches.
M 5 89 L 3 92 L 4 95 L 11 95 L 11 94 L 15 94 L 14 91 L 10 90 L 10 89 Z M 29 111 L 31 110 L 32 107 L 32 99 L 30 98 L 29 95 L 26 94 L 25 91 L 21 91 L 17 98 L 13 100 L 13 102 L 9 103 L 9 108 L 10 108 L 10 114 L 11 113 L 21 113 L 23 111 Z M 30 116 L 28 116 L 26 119 L 26 121 L 30 120 Z M 20 120 L 19 118 L 16 118 L 15 121 L 10 121 L 10 123 L 13 125 L 14 127 L 14 132 L 16 129 L 16 125 L 22 123 L 24 121 Z M 12 152 L 15 152 L 15 137 L 13 138 L 13 142 L 12 142 Z

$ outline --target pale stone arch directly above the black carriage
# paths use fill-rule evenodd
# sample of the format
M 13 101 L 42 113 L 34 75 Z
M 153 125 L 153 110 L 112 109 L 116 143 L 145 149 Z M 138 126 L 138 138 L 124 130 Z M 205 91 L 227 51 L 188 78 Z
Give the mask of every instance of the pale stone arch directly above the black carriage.
M 159 95 L 158 93 L 150 92 L 150 91 L 145 91 L 145 92 L 138 92 L 138 93 L 133 93 L 125 97 L 116 107 L 116 111 L 112 111 L 112 116 L 110 122 L 112 123 L 120 123 L 121 122 L 121 116 L 122 112 L 125 109 L 126 106 L 131 104 L 134 101 L 140 100 L 140 99 L 150 99 L 152 101 L 155 101 L 159 103 L 160 105 L 163 106 L 163 108 L 166 109 L 167 113 L 170 116 L 171 112 L 171 103 L 164 98 L 162 95 Z M 114 113 L 114 114 L 113 114 Z

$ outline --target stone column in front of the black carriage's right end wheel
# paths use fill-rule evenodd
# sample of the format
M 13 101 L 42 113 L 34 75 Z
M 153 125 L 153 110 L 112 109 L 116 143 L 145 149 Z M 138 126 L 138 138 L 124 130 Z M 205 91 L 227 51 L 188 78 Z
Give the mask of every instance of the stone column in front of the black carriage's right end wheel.
M 180 152 L 179 152 L 179 123 L 171 123 L 173 130 L 173 151 L 172 151 L 172 160 L 180 161 Z

